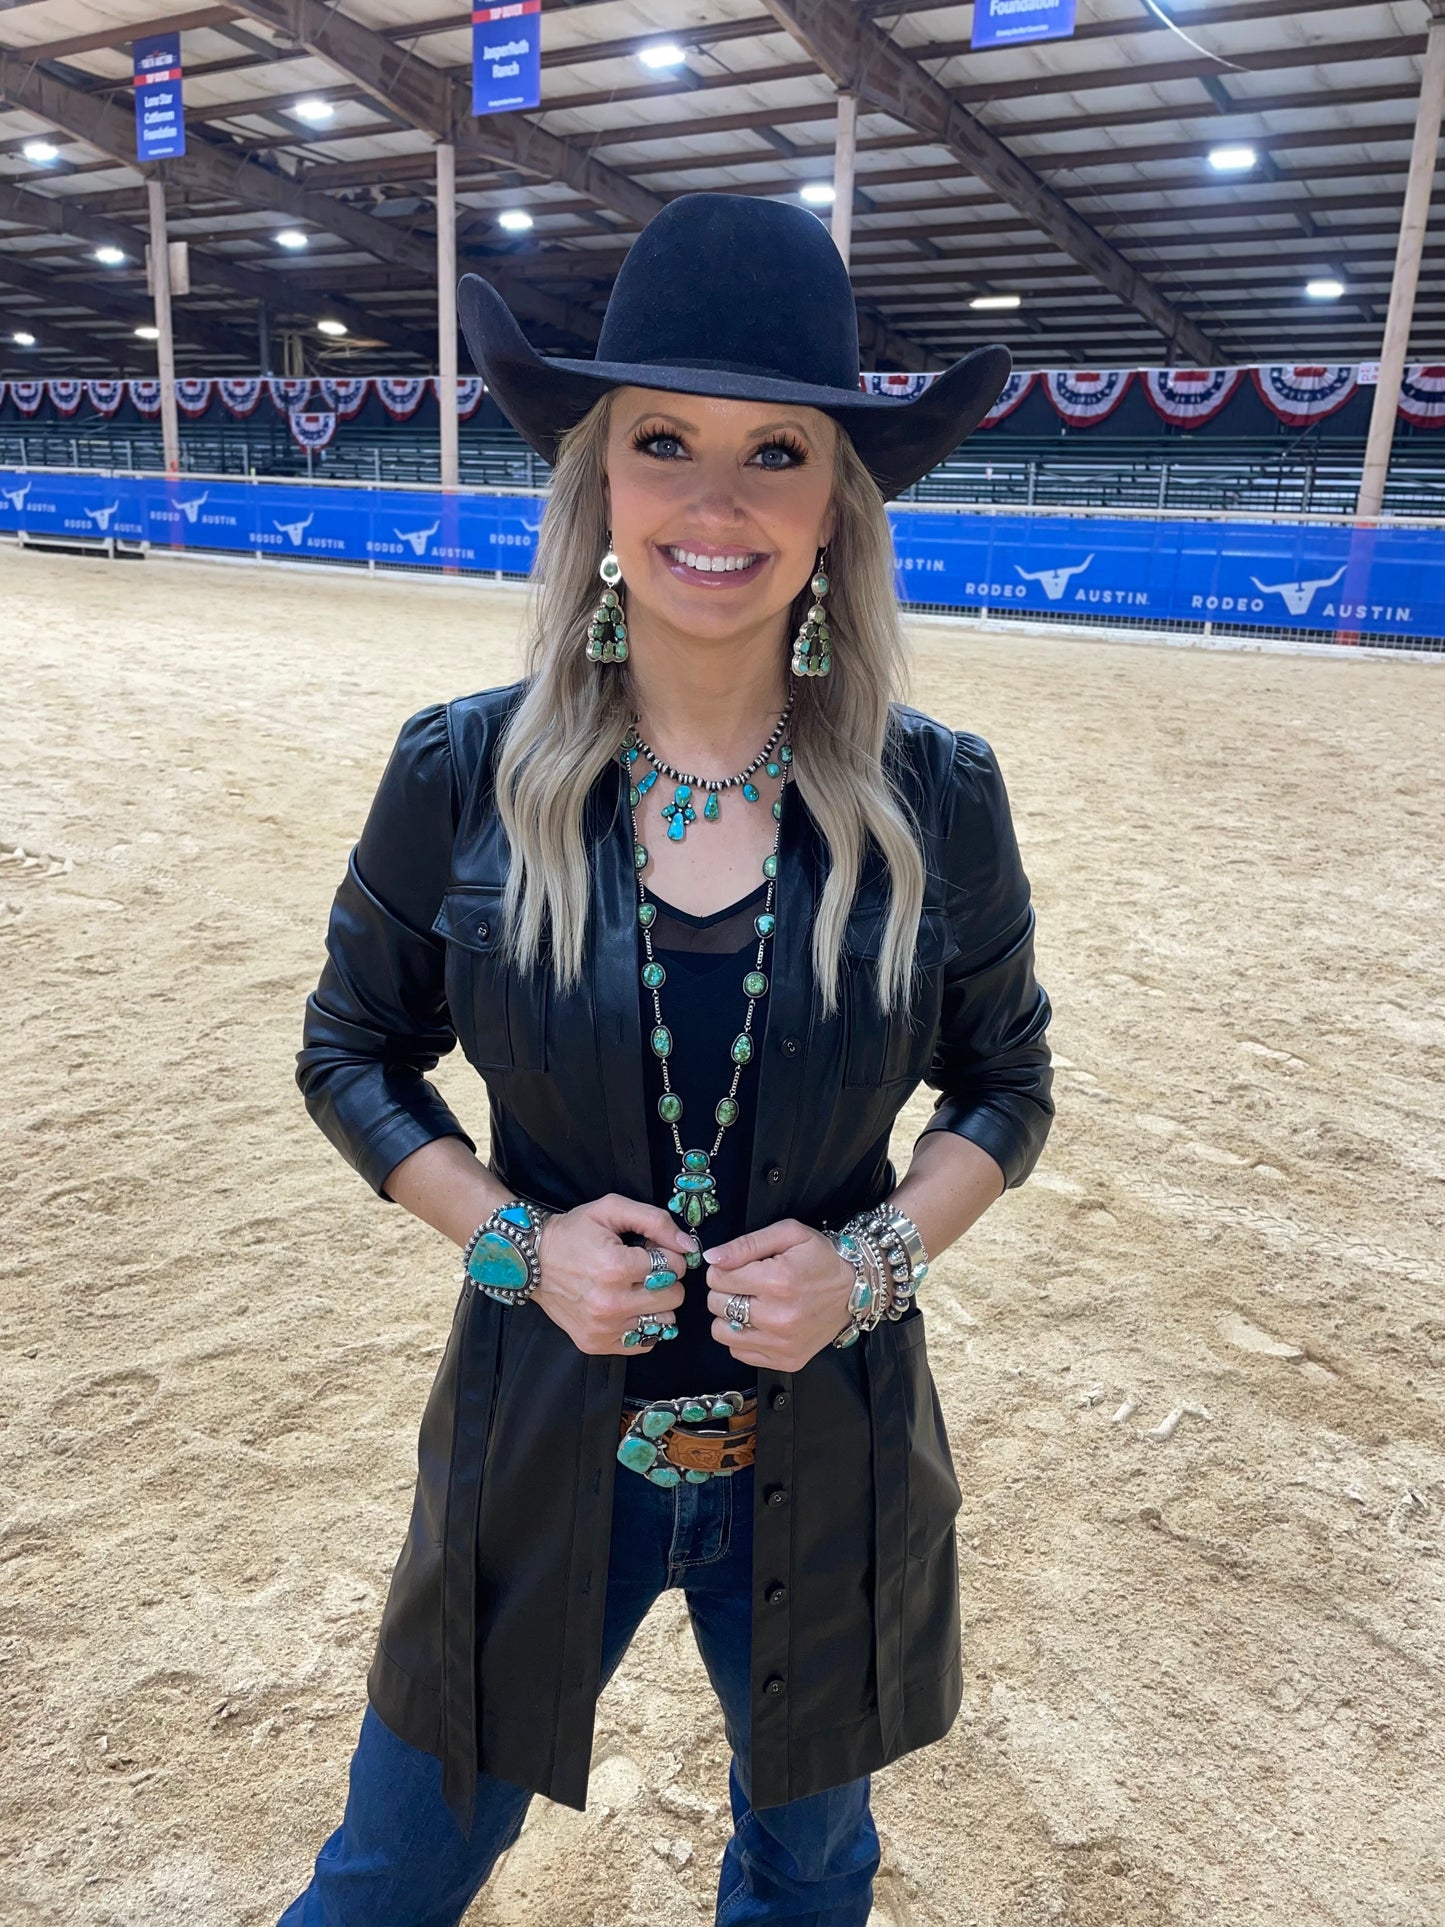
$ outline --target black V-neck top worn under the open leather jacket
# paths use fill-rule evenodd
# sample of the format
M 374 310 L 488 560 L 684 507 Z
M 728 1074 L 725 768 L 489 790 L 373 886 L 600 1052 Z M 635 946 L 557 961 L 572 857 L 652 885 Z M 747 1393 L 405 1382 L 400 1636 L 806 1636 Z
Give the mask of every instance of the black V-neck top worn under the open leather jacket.
M 721 1096 L 726 1096 L 732 1079 L 732 1039 L 748 1014 L 748 992 L 742 979 L 757 958 L 753 917 L 763 908 L 767 884 L 759 883 L 748 896 L 724 910 L 715 910 L 709 917 L 694 917 L 686 910 L 674 910 L 651 890 L 647 896 L 657 904 L 653 956 L 667 969 L 667 983 L 659 996 L 663 1023 L 672 1031 L 669 1058 L 672 1089 L 682 1098 L 678 1133 L 686 1150 L 694 1147 L 711 1150 L 717 1137 L 713 1108 Z M 771 962 L 773 950 L 769 946 L 763 958 L 765 971 Z M 638 944 L 638 969 L 642 969 L 642 942 Z M 642 981 L 640 994 L 642 1035 L 647 1039 L 653 1029 L 653 996 L 642 987 Z M 713 1160 L 721 1210 L 699 1227 L 703 1245 L 722 1245 L 746 1229 L 744 1202 L 753 1152 L 757 1068 L 765 1021 L 767 996 L 761 996 L 753 1012 L 753 1062 L 744 1064 L 738 1081 L 738 1122 L 722 1133 L 722 1147 Z M 659 1204 L 667 1204 L 672 1195 L 672 1179 L 678 1174 L 678 1152 L 672 1131 L 657 1116 L 663 1068 L 651 1050 L 647 1050 L 645 1089 L 647 1147 L 653 1166 L 651 1195 Z M 719 1345 L 713 1337 L 705 1266 L 682 1272 L 682 1281 L 688 1297 L 676 1312 L 678 1335 L 628 1359 L 626 1395 L 676 1399 L 694 1391 L 748 1391 L 755 1384 L 757 1368 L 738 1364 L 726 1345 Z

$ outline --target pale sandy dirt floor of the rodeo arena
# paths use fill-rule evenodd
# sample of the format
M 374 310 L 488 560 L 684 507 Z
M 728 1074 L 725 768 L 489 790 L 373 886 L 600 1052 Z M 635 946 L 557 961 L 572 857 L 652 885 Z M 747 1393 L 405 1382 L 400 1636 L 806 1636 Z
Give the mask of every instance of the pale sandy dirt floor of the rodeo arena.
M 4 1927 L 268 1927 L 339 1817 L 457 1253 L 293 1060 L 401 721 L 518 613 L 0 549 Z M 925 1289 L 967 1684 L 877 1927 L 1439 1927 L 1445 669 L 921 624 L 915 698 L 1000 753 L 1058 1120 Z M 593 1757 L 468 1927 L 709 1927 L 676 1596 Z

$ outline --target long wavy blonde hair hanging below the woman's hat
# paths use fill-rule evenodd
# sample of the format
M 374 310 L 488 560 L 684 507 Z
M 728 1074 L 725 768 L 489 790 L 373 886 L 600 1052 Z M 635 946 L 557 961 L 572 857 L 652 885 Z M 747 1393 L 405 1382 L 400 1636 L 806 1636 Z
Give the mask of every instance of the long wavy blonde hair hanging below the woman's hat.
M 563 989 L 582 977 L 590 894 L 584 805 L 634 715 L 628 665 L 599 669 L 584 655 L 599 595 L 597 561 L 607 547 L 605 455 L 615 393 L 609 389 L 557 451 L 532 570 L 528 686 L 497 753 L 497 807 L 512 850 L 503 944 L 534 969 L 549 931 L 551 967 Z M 792 780 L 832 859 L 813 921 L 813 973 L 823 1010 L 836 1010 L 844 925 L 871 838 L 890 879 L 877 973 L 879 1004 L 890 1010 L 907 1002 L 911 985 L 923 858 L 907 804 L 884 767 L 890 705 L 906 684 L 892 534 L 882 495 L 842 426 L 832 507 L 832 673 L 800 678 L 792 721 Z M 784 661 L 809 603 L 803 586 L 778 644 Z

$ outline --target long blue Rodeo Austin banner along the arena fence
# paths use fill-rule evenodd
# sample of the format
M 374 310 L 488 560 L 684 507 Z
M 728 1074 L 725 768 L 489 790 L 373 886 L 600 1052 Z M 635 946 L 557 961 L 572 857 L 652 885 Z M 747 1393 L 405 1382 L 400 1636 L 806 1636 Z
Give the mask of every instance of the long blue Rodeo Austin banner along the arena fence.
M 526 576 L 543 495 L 0 468 L 0 534 Z M 1445 638 L 1435 528 L 894 505 L 898 597 L 1108 622 Z

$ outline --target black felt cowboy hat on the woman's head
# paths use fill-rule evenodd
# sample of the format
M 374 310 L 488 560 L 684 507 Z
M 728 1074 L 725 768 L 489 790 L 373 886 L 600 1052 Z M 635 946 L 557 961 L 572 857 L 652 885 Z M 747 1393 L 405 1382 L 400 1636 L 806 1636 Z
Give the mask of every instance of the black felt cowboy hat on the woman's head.
M 1012 368 L 975 349 L 921 395 L 857 385 L 848 270 L 805 208 L 748 195 L 680 195 L 617 272 L 593 360 L 538 355 L 489 281 L 462 276 L 462 333 L 497 407 L 543 461 L 607 387 L 657 387 L 821 409 L 848 430 L 884 499 L 973 434 Z

